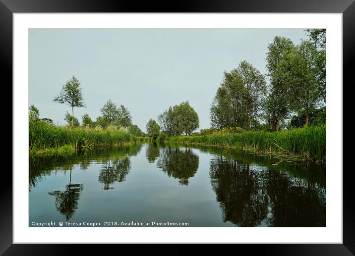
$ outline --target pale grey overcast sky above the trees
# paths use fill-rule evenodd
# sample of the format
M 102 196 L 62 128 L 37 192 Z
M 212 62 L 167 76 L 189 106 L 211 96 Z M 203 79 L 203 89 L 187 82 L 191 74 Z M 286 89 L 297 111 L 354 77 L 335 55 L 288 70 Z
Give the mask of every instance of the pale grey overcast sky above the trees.
M 65 124 L 71 109 L 53 99 L 74 75 L 87 106 L 74 108 L 80 123 L 85 112 L 96 120 L 111 99 L 145 132 L 149 118 L 188 101 L 199 129 L 208 128 L 223 71 L 246 60 L 264 74 L 275 36 L 295 44 L 306 38 L 304 29 L 29 29 L 28 105 Z

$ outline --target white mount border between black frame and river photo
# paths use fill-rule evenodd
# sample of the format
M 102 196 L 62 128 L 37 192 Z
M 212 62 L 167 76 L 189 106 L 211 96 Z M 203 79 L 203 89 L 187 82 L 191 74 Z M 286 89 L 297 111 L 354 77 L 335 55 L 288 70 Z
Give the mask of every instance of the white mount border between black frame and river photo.
M 13 243 L 343 243 L 343 14 L 13 14 Z M 327 227 L 28 227 L 28 28 L 327 28 Z M 330 157 L 331 156 L 331 157 Z

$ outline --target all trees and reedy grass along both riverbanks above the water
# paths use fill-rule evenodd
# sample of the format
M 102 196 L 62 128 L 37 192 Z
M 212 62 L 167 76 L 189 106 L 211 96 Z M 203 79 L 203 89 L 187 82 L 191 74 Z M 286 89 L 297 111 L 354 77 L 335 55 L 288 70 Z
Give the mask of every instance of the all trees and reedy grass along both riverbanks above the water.
M 299 45 L 275 37 L 266 55 L 267 74 L 246 61 L 224 72 L 211 104 L 211 128 L 199 128 L 199 117 L 188 101 L 170 106 L 157 121 L 150 118 L 144 133 L 132 123 L 128 109 L 109 100 L 101 116 L 85 113 L 82 124 L 74 107 L 85 107 L 80 82 L 72 77 L 54 102 L 66 104 L 67 126 L 39 118 L 29 108 L 29 153 L 71 154 L 76 150 L 123 146 L 138 141 L 167 141 L 241 148 L 277 154 L 289 161 L 326 161 L 326 84 L 324 29 L 306 30 Z M 267 79 L 268 77 L 268 83 Z

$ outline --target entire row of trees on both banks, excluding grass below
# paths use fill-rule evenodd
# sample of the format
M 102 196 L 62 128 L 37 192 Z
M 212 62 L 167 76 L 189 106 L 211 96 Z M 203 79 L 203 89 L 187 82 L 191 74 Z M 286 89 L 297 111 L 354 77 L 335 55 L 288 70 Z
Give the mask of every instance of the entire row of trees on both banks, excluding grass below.
M 201 134 L 216 130 L 279 131 L 325 123 L 326 30 L 307 29 L 306 32 L 309 39 L 299 45 L 285 37 L 274 38 L 268 45 L 265 75 L 245 60 L 232 71 L 225 71 L 210 107 L 212 127 L 201 130 Z M 75 76 L 62 86 L 53 101 L 70 106 L 71 113 L 66 112 L 64 120 L 71 128 L 80 126 L 74 117 L 74 107 L 86 105 Z M 199 128 L 199 117 L 188 101 L 170 106 L 158 115 L 158 122 L 150 118 L 146 133 L 132 124 L 132 116 L 123 104 L 108 100 L 100 110 L 101 116 L 95 121 L 85 113 L 81 117 L 82 126 L 150 137 L 162 132 L 165 136 L 190 136 Z M 29 111 L 30 118 L 39 119 L 39 110 L 34 105 Z M 49 118 L 42 119 L 53 124 Z

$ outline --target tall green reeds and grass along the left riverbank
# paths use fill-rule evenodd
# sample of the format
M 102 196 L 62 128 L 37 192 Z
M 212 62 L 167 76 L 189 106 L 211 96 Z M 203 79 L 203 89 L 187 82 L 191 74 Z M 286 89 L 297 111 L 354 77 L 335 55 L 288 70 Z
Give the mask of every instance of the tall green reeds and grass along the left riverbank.
M 78 149 L 123 146 L 137 138 L 128 132 L 58 127 L 41 120 L 29 121 L 30 154 L 55 154 Z

